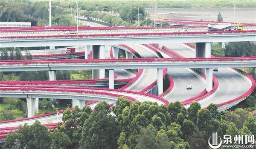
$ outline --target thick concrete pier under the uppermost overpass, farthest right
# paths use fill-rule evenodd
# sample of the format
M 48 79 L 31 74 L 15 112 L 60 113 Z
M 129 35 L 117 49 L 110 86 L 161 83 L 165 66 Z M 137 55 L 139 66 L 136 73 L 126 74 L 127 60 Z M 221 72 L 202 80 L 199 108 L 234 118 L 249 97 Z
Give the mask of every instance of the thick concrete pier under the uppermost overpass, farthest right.
M 196 43 L 195 57 L 211 57 L 211 43 Z M 205 74 L 204 68 L 198 68 L 197 70 Z

